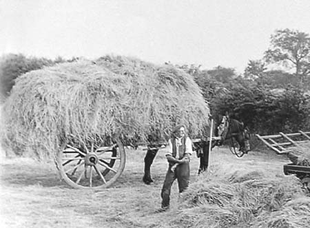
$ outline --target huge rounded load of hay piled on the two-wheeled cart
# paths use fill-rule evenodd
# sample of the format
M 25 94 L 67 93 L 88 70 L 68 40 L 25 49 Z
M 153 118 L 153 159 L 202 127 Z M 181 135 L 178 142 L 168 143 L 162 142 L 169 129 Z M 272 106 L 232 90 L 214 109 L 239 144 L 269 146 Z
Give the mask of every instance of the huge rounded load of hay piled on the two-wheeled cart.
M 3 146 L 48 158 L 65 140 L 167 141 L 176 124 L 203 134 L 209 107 L 189 74 L 123 56 L 62 63 L 20 76 L 3 107 Z

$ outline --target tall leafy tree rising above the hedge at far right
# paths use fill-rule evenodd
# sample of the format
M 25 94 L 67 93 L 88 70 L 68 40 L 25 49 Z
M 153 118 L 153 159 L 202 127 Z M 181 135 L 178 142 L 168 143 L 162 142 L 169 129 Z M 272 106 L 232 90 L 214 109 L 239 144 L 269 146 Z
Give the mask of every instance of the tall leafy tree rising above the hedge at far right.
M 302 83 L 310 74 L 309 34 L 298 30 L 276 30 L 271 35 L 271 48 L 265 52 L 267 63 L 293 65 Z

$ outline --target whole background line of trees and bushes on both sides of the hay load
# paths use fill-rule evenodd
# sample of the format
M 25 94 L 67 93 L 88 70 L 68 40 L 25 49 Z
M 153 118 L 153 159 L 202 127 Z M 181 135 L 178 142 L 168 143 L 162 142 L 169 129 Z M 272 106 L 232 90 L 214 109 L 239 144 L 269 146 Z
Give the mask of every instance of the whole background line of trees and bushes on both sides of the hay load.
M 77 59 L 1 56 L 1 100 L 21 74 Z M 282 68 L 272 70 L 270 65 Z M 229 112 L 258 134 L 310 129 L 310 37 L 305 32 L 276 30 L 262 59 L 249 60 L 242 74 L 222 66 L 211 70 L 201 70 L 200 65 L 176 67 L 194 76 L 214 116 Z

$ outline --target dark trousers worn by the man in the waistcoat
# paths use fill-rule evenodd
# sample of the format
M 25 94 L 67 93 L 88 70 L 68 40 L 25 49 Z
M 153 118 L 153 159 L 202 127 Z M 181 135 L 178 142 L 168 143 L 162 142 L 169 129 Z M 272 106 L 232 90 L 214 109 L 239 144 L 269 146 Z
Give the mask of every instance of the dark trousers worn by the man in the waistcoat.
M 183 163 L 176 167 L 174 172 L 171 171 L 171 165 L 169 165 L 163 188 L 161 189 L 161 207 L 169 207 L 170 203 L 170 191 L 174 180 L 178 180 L 178 191 L 181 193 L 187 189 L 189 185 L 189 163 Z

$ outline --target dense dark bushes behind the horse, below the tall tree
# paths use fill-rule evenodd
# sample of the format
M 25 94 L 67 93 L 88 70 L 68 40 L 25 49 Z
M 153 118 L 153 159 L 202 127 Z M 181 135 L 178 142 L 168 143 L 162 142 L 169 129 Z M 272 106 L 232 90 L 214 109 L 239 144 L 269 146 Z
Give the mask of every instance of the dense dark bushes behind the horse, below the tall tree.
M 293 74 L 273 70 L 244 77 L 218 67 L 198 69 L 194 77 L 216 120 L 228 111 L 256 134 L 310 128 L 310 92 Z

